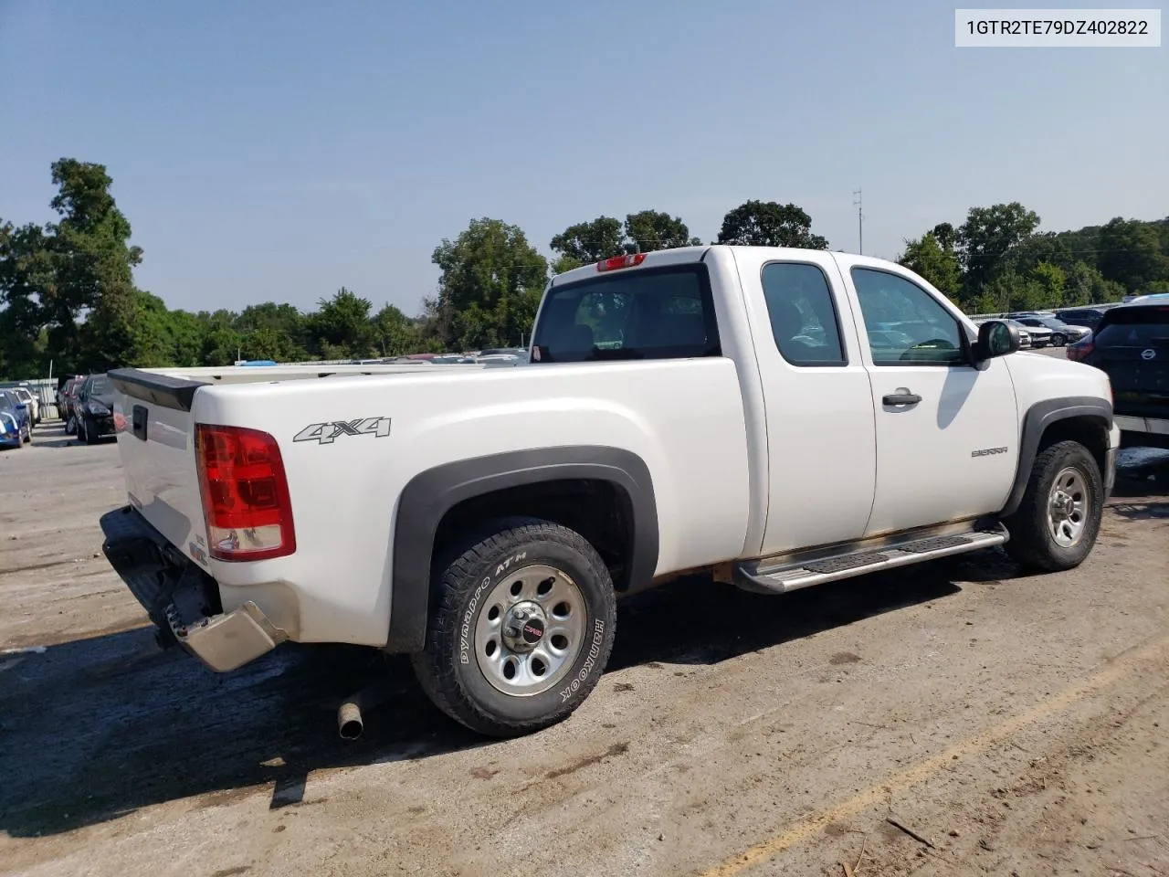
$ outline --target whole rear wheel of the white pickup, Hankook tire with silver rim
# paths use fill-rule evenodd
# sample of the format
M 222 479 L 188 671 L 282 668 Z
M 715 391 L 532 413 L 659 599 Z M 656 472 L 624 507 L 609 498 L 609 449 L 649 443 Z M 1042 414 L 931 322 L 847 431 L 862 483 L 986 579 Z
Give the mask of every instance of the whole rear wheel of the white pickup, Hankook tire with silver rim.
M 566 719 L 593 691 L 616 634 L 616 595 L 573 530 L 511 518 L 441 573 L 414 671 L 438 709 L 472 731 L 517 737 Z

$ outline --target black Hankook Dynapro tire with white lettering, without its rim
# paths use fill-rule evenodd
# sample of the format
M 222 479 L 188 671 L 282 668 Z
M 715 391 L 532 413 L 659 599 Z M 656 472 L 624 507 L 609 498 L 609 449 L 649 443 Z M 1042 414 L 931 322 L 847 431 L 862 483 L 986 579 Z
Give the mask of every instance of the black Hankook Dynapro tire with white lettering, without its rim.
M 413 655 L 411 663 L 423 691 L 452 719 L 489 737 L 518 737 L 568 718 L 593 691 L 613 650 L 616 594 L 600 554 L 573 530 L 537 518 L 506 518 L 480 532 L 485 534 L 440 561 L 426 650 Z M 506 693 L 480 668 L 476 624 L 482 613 L 491 612 L 492 594 L 504 582 L 535 566 L 552 567 L 575 586 L 586 610 L 582 635 L 552 688 Z

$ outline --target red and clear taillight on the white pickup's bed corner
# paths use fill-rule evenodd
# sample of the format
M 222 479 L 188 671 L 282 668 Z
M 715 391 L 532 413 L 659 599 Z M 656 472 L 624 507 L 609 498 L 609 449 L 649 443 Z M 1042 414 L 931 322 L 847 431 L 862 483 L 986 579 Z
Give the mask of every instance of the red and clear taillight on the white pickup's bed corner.
M 195 464 L 213 558 L 267 560 L 296 551 L 284 461 L 272 436 L 199 423 Z

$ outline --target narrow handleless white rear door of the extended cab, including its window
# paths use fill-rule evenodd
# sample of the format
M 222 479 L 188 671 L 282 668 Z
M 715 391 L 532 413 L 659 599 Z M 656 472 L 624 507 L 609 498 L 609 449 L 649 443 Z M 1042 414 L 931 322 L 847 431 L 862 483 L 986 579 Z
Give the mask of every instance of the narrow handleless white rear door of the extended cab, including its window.
M 832 256 L 772 254 L 735 251 L 763 385 L 763 554 L 860 538 L 876 483 L 872 391 Z

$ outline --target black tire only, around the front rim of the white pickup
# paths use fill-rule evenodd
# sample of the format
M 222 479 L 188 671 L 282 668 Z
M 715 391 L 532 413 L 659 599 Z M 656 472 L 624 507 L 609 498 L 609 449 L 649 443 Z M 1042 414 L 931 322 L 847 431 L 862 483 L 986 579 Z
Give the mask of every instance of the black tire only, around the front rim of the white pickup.
M 1056 479 L 1065 472 L 1078 476 L 1084 520 L 1078 538 L 1070 545 L 1057 541 L 1051 523 Z M 1025 569 L 1059 572 L 1084 562 L 1100 533 L 1104 516 L 1104 478 L 1091 451 L 1077 441 L 1063 441 L 1045 448 L 1031 467 L 1026 491 L 1018 510 L 1003 523 L 1010 532 L 1007 553 Z

